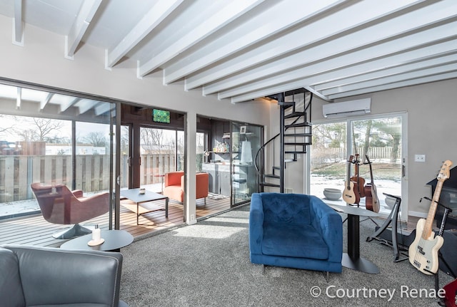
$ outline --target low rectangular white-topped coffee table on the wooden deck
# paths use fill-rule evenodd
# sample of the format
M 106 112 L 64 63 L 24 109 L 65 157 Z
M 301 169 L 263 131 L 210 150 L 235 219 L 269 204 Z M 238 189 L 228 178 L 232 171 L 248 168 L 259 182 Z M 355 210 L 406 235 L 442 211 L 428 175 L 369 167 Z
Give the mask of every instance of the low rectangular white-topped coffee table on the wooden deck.
M 140 194 L 140 189 L 122 189 L 121 198 L 122 197 L 131 200 L 132 203 L 121 202 L 121 205 L 136 212 L 137 225 L 139 225 L 139 217 L 141 214 L 163 210 L 162 207 L 158 207 L 156 204 L 147 204 L 148 202 L 154 202 L 155 200 L 165 199 L 165 217 L 169 217 L 169 198 L 162 194 L 148 190 L 146 190 L 144 194 Z

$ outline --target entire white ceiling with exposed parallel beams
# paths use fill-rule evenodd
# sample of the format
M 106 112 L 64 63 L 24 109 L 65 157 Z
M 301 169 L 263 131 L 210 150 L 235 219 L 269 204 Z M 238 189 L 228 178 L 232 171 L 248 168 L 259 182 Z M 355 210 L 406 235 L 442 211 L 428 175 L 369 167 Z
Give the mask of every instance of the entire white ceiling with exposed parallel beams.
M 132 77 L 241 103 L 306 88 L 333 101 L 457 78 L 457 1 L 413 0 L 0 0 L 12 41 L 24 24 L 123 58 Z M 2 43 L 11 43 L 2 42 Z M 124 68 L 125 69 L 125 68 Z M 81 108 L 85 105 L 81 105 Z

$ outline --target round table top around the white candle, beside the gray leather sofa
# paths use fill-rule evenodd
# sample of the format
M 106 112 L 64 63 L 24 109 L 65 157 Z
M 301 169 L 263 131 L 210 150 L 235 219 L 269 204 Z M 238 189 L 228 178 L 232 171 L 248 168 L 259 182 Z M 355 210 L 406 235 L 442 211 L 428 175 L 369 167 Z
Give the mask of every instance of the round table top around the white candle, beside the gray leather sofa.
M 100 245 L 89 246 L 92 234 L 79 236 L 75 239 L 66 241 L 60 246 L 61 249 L 85 249 L 89 251 L 120 251 L 134 241 L 134 236 L 125 230 L 102 230 L 101 238 L 105 241 Z

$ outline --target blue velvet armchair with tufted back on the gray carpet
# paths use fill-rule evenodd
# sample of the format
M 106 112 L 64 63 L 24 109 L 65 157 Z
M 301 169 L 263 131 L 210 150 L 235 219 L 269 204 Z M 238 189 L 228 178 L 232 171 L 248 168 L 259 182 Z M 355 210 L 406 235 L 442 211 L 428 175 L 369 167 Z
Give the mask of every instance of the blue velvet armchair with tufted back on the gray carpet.
M 253 264 L 341 273 L 341 216 L 312 195 L 254 193 L 249 249 Z

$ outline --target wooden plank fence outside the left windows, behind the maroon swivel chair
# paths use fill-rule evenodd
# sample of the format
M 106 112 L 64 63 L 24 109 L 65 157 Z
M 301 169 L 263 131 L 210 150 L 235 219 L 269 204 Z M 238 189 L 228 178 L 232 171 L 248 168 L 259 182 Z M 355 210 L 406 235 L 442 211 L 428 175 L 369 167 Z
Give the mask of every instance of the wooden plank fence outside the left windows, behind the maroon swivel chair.
M 161 182 L 164 174 L 175 170 L 173 154 L 141 155 L 141 184 Z M 111 157 L 76 155 L 76 189 L 98 192 L 109 189 Z M 30 184 L 66 184 L 73 187 L 73 165 L 69 155 L 0 156 L 0 202 L 33 199 Z M 114 172 L 114 170 L 113 170 Z M 121 157 L 121 187 L 128 187 L 128 157 Z

